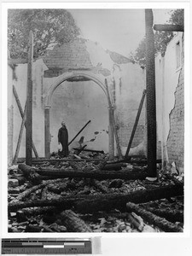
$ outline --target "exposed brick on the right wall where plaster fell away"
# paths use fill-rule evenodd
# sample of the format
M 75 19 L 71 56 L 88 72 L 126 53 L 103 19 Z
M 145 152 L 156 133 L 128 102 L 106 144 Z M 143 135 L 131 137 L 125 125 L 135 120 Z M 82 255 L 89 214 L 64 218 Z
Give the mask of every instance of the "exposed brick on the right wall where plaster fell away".
M 167 139 L 169 161 L 183 167 L 184 162 L 184 50 L 182 51 L 182 69 L 175 91 L 175 106 L 170 113 L 170 132 Z

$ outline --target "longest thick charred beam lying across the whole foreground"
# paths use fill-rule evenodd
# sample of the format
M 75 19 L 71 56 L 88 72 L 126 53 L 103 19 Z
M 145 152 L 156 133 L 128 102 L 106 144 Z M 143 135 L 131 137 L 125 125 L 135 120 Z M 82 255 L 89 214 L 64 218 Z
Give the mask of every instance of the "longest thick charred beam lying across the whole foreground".
M 74 207 L 78 212 L 97 212 L 110 209 L 126 210 L 127 202 L 144 203 L 162 198 L 183 195 L 183 187 L 179 185 L 167 185 L 155 189 L 137 190 L 122 194 L 105 195 L 77 195 L 61 196 L 59 199 L 17 201 L 8 205 L 9 212 L 14 212 L 26 207 L 60 207 L 63 210 Z

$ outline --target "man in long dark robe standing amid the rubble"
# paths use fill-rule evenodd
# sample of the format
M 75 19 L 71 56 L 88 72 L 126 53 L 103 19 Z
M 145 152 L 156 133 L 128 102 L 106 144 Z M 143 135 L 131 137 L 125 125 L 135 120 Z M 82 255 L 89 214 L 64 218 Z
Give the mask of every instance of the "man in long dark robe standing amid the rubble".
M 62 127 L 58 132 L 58 143 L 62 145 L 62 151 L 59 151 L 61 157 L 68 155 L 68 131 L 65 122 L 61 123 Z

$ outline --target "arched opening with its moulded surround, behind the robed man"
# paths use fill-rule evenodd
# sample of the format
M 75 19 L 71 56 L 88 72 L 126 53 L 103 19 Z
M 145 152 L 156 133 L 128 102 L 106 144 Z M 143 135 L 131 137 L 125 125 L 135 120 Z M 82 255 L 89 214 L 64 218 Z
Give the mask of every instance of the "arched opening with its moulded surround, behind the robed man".
M 90 120 L 90 124 L 79 137 L 84 136 L 90 149 L 102 149 L 113 159 L 113 125 L 108 112 L 106 87 L 101 78 L 87 72 L 62 74 L 50 86 L 47 94 L 45 157 L 49 158 L 50 152 L 57 148 L 57 133 L 61 120 L 64 119 L 69 131 L 69 140 Z M 73 146 L 72 144 L 70 149 Z

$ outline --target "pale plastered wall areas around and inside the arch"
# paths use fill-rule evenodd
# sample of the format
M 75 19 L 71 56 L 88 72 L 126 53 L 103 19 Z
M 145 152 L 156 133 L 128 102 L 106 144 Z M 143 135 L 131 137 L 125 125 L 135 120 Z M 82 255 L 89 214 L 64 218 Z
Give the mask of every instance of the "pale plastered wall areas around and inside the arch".
M 126 63 L 117 65 L 110 58 L 108 53 L 99 45 L 91 46 L 87 44 L 90 53 L 90 60 L 94 66 L 106 68 L 111 72 L 108 76 L 108 85 L 111 95 L 115 97 L 115 118 L 121 148 L 125 151 L 129 141 L 132 126 L 134 124 L 137 109 L 143 94 L 144 72 L 137 64 Z M 92 47 L 92 48 L 91 48 Z M 96 49 L 94 47 L 97 47 Z M 44 78 L 44 70 L 47 67 L 42 60 L 33 63 L 33 112 L 32 112 L 32 136 L 33 142 L 38 150 L 39 156 L 44 156 L 44 104 L 49 87 L 57 78 Z M 22 108 L 26 102 L 26 73 L 27 65 L 19 64 L 15 67 L 17 79 L 14 84 Z M 104 80 L 105 77 L 103 77 Z M 115 82 L 115 88 L 113 87 Z M 16 106 L 15 99 L 12 99 L 14 106 L 14 146 L 19 136 L 21 118 Z M 144 108 L 143 108 L 144 109 Z M 88 120 L 90 124 L 77 137 L 81 136 L 88 143 L 91 139 L 95 140 L 88 144 L 87 148 L 101 149 L 108 152 L 108 101 L 98 84 L 93 81 L 85 82 L 63 82 L 54 92 L 50 108 L 50 151 L 57 151 L 57 132 L 61 127 L 61 120 L 65 120 L 69 131 L 69 141 L 85 125 Z M 143 142 L 144 137 L 144 111 L 141 115 L 137 139 L 133 146 Z M 26 131 L 24 131 L 19 157 L 25 157 L 26 151 Z M 73 148 L 74 144 L 70 148 Z

